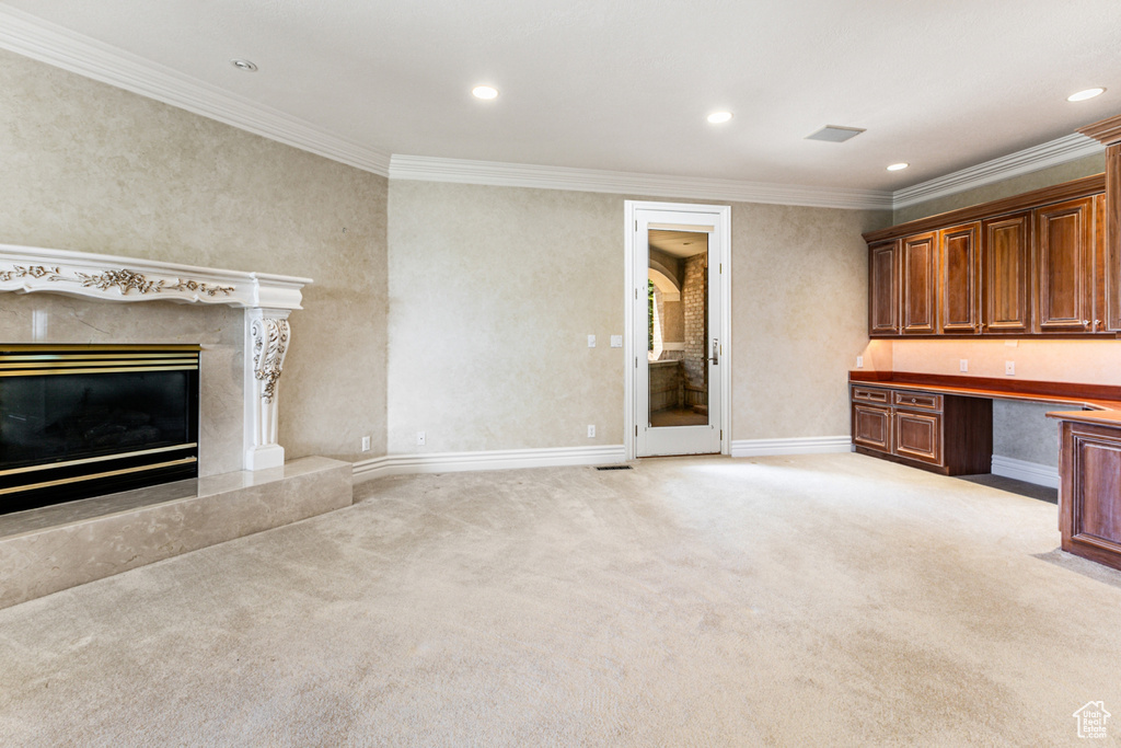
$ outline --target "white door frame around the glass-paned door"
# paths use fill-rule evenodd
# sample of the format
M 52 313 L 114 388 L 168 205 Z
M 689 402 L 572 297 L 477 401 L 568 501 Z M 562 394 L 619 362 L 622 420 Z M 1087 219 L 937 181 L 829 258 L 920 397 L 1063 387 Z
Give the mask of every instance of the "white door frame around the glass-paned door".
M 627 325 L 623 327 L 623 446 L 627 450 L 627 459 L 636 459 L 636 432 L 637 419 L 636 403 L 637 381 L 634 371 L 638 367 L 638 355 L 646 355 L 646 340 L 642 340 L 641 350 L 639 341 L 634 338 L 634 301 L 638 288 L 638 279 L 634 277 L 634 244 L 637 210 L 671 211 L 675 213 L 701 213 L 707 216 L 716 227 L 720 244 L 720 324 L 721 335 L 721 363 L 724 370 L 720 377 L 720 453 L 731 454 L 732 445 L 732 206 L 731 205 L 704 205 L 698 203 L 659 203 L 640 200 L 628 200 L 623 203 L 623 236 L 626 238 L 626 262 L 624 273 L 626 286 L 623 298 L 626 304 Z M 645 285 L 643 285 L 645 288 Z M 645 292 L 643 292 L 645 295 Z

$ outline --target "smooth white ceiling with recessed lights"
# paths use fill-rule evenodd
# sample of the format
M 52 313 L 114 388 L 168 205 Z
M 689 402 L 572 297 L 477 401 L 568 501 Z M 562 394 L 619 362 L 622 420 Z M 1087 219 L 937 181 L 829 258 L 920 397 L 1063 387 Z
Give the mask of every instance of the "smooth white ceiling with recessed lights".
M 395 155 L 897 191 L 1121 112 L 1118 0 L 2 0 L 3 9 L 127 53 L 137 80 L 170 71 Z M 234 68 L 235 57 L 258 72 Z M 501 94 L 479 101 L 479 83 Z M 1091 86 L 1108 91 L 1066 101 Z M 715 110 L 734 118 L 708 124 Z M 843 144 L 805 139 L 825 124 L 867 131 Z M 896 161 L 911 167 L 884 169 Z

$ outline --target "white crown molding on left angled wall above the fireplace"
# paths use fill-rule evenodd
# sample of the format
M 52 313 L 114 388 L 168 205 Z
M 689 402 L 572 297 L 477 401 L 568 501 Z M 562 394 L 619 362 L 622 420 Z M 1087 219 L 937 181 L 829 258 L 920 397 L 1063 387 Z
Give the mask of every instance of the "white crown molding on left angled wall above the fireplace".
M 299 118 L 0 6 L 0 48 L 381 176 L 389 155 Z

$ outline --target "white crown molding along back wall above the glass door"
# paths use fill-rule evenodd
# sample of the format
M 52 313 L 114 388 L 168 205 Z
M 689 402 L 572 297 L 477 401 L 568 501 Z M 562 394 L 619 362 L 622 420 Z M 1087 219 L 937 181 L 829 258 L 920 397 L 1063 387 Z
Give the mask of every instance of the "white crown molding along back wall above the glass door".
M 389 161 L 389 178 L 849 210 L 892 207 L 891 193 L 878 190 L 807 187 L 397 154 Z

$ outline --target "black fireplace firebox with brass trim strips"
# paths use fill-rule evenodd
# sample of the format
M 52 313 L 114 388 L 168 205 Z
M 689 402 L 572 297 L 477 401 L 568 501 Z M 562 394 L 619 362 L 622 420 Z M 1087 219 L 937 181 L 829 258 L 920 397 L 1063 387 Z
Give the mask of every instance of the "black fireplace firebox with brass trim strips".
M 198 475 L 198 345 L 0 345 L 0 514 Z

